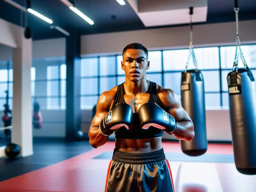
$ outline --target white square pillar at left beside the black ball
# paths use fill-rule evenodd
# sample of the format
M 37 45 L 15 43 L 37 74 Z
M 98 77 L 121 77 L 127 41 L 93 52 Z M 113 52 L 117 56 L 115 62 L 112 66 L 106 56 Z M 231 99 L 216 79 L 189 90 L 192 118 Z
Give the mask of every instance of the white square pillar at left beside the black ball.
M 32 40 L 20 34 L 20 46 L 13 49 L 13 129 L 12 143 L 21 147 L 20 155 L 33 155 L 31 118 Z

